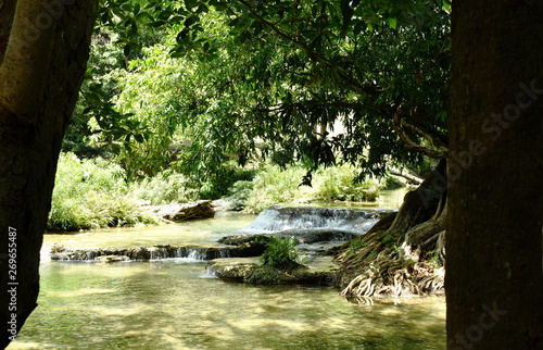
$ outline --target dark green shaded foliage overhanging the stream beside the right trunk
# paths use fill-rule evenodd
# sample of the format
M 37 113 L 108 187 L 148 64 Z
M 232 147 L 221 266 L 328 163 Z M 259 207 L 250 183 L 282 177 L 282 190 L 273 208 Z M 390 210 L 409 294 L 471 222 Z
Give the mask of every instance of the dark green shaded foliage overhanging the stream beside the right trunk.
M 378 176 L 389 162 L 421 162 L 404 139 L 446 143 L 449 3 L 210 3 L 224 11 L 213 15 L 229 35 L 206 26 L 206 9 L 185 23 L 173 53 L 203 61 L 214 114 L 219 123 L 236 118 L 232 142 L 262 138 L 264 155 L 281 165 L 301 160 L 308 170 L 339 154 L 361 175 Z M 207 139 L 220 139 L 212 134 Z

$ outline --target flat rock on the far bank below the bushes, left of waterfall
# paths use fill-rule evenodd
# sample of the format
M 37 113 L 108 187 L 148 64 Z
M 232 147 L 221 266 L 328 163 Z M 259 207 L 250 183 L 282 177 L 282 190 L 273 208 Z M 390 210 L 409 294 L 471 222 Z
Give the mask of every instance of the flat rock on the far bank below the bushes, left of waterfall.
M 160 217 L 173 222 L 215 216 L 215 209 L 211 200 L 199 200 L 190 203 L 157 205 L 154 207 L 153 211 Z

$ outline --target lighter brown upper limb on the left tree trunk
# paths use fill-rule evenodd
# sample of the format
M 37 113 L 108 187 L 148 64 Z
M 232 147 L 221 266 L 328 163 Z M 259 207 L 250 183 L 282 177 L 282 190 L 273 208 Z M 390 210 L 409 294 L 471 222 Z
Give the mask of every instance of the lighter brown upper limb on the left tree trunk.
M 62 2 L 18 0 L 8 48 L 0 66 L 0 108 L 33 124 L 50 63 Z

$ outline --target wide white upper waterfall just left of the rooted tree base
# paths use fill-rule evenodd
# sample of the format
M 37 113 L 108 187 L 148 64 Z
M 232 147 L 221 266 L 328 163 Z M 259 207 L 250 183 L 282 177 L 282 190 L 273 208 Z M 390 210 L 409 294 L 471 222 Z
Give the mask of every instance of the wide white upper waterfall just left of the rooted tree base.
M 272 205 L 242 230 L 262 234 L 292 228 L 337 228 L 364 234 L 384 213 L 349 208 Z

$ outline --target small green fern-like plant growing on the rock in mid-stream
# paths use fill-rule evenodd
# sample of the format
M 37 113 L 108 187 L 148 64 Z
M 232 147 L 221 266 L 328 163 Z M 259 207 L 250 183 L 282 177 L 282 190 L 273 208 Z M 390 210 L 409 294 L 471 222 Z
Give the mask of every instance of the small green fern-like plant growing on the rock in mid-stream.
M 261 255 L 261 262 L 279 270 L 294 270 L 301 266 L 301 257 L 296 249 L 294 237 L 269 237 L 265 242 L 266 250 Z

